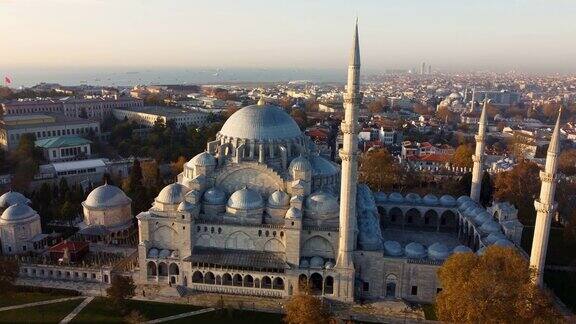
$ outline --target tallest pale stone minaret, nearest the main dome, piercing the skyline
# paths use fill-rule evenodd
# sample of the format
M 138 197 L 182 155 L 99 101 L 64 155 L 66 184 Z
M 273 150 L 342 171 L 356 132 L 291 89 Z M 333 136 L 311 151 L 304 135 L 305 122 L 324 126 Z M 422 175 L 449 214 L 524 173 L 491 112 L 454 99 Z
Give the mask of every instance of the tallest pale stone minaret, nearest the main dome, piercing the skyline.
M 354 252 L 356 229 L 356 186 L 358 184 L 358 111 L 362 101 L 360 93 L 360 46 L 358 20 L 348 64 L 348 83 L 344 95 L 344 121 L 341 124 L 343 147 L 342 178 L 340 187 L 340 241 L 336 269 L 340 272 L 338 295 L 341 299 L 354 299 Z

